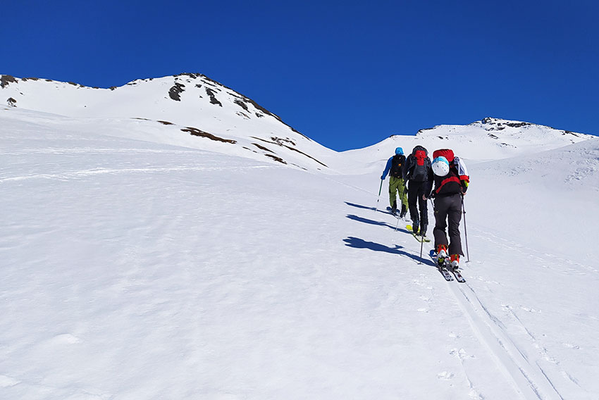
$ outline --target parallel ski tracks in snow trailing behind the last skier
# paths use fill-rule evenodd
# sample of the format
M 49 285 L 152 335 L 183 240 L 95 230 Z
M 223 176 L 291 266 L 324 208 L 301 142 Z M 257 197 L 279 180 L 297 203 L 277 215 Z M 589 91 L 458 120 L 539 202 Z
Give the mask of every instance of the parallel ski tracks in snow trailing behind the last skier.
M 468 285 L 449 285 L 460 308 L 467 315 L 469 323 L 483 344 L 487 346 L 498 368 L 513 382 L 513 387 L 525 400 L 564 400 L 562 395 L 541 369 L 538 363 L 532 364 L 526 355 L 505 333 L 502 323 L 488 311 Z M 466 292 L 471 292 L 471 296 Z M 459 293 L 458 293 L 459 292 Z M 555 397 L 555 396 L 557 397 Z

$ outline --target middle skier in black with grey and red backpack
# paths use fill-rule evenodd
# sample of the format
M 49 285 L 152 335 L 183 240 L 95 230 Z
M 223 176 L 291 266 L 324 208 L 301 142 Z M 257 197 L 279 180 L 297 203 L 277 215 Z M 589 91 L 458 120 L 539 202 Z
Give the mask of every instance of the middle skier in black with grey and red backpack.
M 412 220 L 412 230 L 414 234 L 424 237 L 428 227 L 426 197 L 431 194 L 433 189 L 433 171 L 431 170 L 431 158 L 428 158 L 428 151 L 423 146 L 414 147 L 412 154 L 407 156 L 402 177 L 404 181 L 408 182 L 407 202 L 409 218 Z

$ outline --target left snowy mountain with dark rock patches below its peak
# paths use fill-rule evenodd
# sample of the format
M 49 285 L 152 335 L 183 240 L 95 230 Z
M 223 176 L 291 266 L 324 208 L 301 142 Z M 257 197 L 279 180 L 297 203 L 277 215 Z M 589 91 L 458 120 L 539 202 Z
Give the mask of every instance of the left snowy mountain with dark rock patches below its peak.
M 108 125 L 109 132 L 113 127 L 121 130 L 117 136 L 180 143 L 307 170 L 328 170 L 319 158 L 335 153 L 252 99 L 201 74 L 135 80 L 110 89 L 9 75 L 0 75 L 0 84 L 7 106 L 56 114 L 57 119 L 75 118 L 73 129 L 95 131 L 98 125 Z

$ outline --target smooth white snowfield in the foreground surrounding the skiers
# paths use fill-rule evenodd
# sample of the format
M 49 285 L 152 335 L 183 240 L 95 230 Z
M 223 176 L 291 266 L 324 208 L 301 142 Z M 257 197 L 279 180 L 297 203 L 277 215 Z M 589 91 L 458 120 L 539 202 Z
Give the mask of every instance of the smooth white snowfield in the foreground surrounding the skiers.
M 417 139 L 319 173 L 144 118 L 0 108 L 1 399 L 599 397 L 599 139 L 471 156 L 460 285 L 374 211 Z

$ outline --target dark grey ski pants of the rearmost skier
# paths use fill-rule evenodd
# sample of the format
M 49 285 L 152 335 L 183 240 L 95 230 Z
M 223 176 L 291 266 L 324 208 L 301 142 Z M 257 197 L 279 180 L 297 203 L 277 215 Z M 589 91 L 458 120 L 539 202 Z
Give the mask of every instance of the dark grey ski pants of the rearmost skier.
M 439 244 L 447 246 L 445 228 L 449 223 L 449 254 L 461 254 L 462 239 L 459 237 L 459 221 L 462 220 L 462 196 L 459 193 L 438 196 L 435 199 L 435 249 Z

